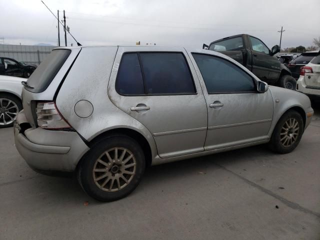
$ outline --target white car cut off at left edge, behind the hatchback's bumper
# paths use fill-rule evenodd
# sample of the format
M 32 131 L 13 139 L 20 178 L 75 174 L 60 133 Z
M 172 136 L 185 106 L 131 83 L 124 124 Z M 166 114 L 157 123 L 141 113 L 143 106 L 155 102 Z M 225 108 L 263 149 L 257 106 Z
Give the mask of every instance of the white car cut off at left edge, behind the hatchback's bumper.
M 13 126 L 17 113 L 22 109 L 23 80 L 25 78 L 0 75 L 0 128 Z

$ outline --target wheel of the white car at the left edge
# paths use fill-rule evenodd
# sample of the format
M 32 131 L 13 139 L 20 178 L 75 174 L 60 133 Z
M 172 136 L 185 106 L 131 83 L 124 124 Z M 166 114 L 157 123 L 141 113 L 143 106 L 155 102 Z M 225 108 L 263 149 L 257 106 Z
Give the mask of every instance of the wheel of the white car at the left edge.
M 22 110 L 22 103 L 17 96 L 0 92 L 0 128 L 13 126 L 20 110 Z

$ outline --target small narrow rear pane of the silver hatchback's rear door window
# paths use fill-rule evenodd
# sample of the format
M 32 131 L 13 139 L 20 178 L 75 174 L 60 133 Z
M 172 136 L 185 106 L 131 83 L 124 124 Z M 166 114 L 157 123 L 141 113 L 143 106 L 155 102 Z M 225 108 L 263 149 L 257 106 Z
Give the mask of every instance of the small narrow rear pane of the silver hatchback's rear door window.
M 115 89 L 120 94 L 144 94 L 137 53 L 123 54 L 115 81 Z

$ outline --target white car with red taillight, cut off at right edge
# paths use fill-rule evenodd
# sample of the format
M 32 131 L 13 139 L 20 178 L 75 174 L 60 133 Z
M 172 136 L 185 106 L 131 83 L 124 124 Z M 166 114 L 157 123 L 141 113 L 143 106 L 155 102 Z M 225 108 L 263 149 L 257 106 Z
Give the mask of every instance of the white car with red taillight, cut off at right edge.
M 320 96 L 320 51 L 308 64 L 301 67 L 296 90 Z

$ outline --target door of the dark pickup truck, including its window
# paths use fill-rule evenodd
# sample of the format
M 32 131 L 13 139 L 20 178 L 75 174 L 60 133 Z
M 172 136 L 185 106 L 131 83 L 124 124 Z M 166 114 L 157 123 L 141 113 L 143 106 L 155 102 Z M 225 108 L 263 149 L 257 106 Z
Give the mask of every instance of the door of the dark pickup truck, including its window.
M 252 50 L 252 72 L 262 81 L 275 82 L 280 75 L 280 61 L 258 38 L 249 36 Z

